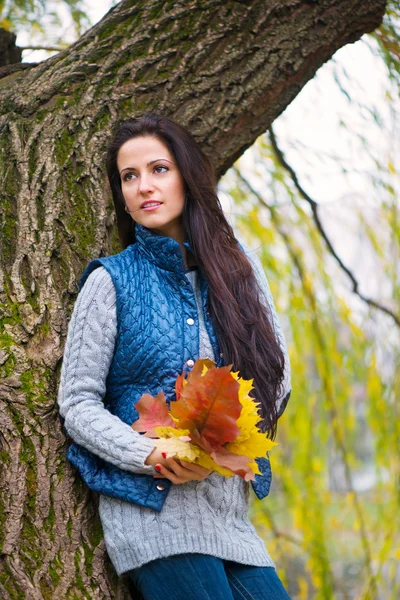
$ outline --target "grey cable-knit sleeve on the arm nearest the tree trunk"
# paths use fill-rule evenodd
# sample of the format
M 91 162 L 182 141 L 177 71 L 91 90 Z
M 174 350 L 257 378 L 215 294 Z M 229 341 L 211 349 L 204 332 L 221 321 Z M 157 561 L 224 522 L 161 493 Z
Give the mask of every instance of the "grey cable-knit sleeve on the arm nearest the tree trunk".
M 77 444 L 120 469 L 155 474 L 144 461 L 154 448 L 105 406 L 106 379 L 117 333 L 116 293 L 104 267 L 85 281 L 68 326 L 58 389 L 67 434 Z

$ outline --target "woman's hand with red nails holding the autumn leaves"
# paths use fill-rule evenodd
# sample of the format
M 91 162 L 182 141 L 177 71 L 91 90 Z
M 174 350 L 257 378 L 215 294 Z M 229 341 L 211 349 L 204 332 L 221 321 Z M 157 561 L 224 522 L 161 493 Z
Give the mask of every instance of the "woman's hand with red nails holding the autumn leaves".
M 187 483 L 188 481 L 202 481 L 212 470 L 195 465 L 194 463 L 177 458 L 165 458 L 165 456 L 154 448 L 153 452 L 145 460 L 145 464 L 152 465 L 160 475 L 154 475 L 154 479 L 169 479 L 172 483 Z

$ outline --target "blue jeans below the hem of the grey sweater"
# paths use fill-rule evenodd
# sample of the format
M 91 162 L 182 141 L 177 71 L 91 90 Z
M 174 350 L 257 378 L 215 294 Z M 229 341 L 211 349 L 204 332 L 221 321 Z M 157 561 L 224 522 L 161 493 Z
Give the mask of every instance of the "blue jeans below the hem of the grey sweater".
M 177 554 L 128 571 L 144 600 L 290 600 L 273 567 Z

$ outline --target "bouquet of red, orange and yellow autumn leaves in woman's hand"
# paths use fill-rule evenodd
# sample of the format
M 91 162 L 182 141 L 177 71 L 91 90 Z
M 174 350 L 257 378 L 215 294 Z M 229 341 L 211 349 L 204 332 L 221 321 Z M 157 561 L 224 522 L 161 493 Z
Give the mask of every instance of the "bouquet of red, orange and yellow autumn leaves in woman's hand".
M 249 396 L 253 380 L 241 379 L 231 368 L 197 360 L 186 378 L 177 377 L 176 401 L 170 407 L 162 391 L 155 398 L 143 394 L 132 428 L 154 438 L 154 445 L 168 457 L 254 481 L 260 474 L 255 459 L 277 444 L 257 427 L 260 415 Z

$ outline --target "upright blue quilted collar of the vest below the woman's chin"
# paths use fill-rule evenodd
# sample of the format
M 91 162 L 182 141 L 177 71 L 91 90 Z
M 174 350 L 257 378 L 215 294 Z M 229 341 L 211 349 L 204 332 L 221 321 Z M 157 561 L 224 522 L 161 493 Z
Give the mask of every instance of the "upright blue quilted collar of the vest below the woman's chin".
M 186 273 L 185 261 L 179 243 L 171 237 L 154 233 L 148 227 L 135 224 L 136 242 L 143 254 L 161 269 Z M 188 264 L 195 266 L 193 250 L 189 240 L 183 242 L 189 251 Z

